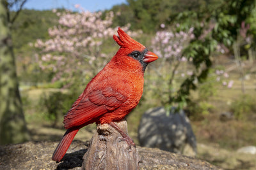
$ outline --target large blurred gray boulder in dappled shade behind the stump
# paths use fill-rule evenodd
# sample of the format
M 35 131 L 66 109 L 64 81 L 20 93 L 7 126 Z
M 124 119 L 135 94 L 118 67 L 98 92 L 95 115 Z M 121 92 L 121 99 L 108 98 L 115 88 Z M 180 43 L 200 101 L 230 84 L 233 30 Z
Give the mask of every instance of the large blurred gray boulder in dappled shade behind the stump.
M 189 118 L 183 110 L 174 113 L 175 108 L 166 114 L 163 107 L 147 110 L 140 122 L 138 139 L 141 146 L 159 148 L 174 153 L 183 153 L 186 144 L 196 154 L 196 138 Z

